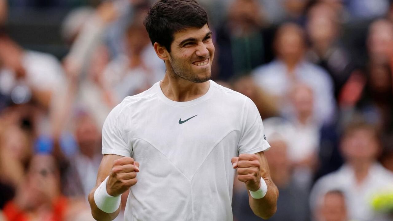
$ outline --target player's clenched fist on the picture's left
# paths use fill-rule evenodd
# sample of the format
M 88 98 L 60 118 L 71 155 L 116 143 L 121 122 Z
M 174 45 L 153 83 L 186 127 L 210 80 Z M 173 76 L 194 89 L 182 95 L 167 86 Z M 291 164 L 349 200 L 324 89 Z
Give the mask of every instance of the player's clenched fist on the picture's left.
M 137 172 L 139 172 L 139 163 L 133 158 L 123 157 L 115 160 L 107 181 L 108 194 L 118 196 L 134 186 L 137 182 Z

